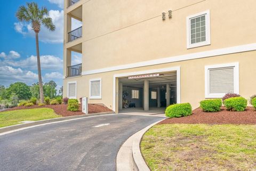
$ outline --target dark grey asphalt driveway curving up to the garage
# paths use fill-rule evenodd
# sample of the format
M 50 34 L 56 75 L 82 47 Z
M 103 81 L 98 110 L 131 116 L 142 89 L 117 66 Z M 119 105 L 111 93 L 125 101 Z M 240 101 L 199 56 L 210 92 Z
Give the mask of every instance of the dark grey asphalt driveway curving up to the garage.
M 108 115 L 0 136 L 0 170 L 116 170 L 120 146 L 161 117 Z

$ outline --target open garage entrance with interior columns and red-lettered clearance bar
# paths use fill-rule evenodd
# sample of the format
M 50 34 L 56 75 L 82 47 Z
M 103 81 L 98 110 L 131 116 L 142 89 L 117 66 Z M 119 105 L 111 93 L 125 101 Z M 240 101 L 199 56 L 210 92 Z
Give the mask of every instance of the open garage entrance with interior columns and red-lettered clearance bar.
M 127 76 L 118 80 L 118 108 L 122 113 L 163 113 L 166 106 L 177 103 L 177 71 Z

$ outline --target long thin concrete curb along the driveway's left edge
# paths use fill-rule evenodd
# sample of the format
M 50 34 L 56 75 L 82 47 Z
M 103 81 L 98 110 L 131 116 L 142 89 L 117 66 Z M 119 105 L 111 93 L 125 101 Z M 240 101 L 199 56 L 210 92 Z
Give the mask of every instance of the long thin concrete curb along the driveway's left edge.
M 15 129 L 25 128 L 25 127 L 35 126 L 35 125 L 53 123 L 53 122 L 57 122 L 57 121 L 70 120 L 70 119 L 86 118 L 86 117 L 92 117 L 92 116 L 109 115 L 109 114 L 114 114 L 114 113 L 115 112 L 101 112 L 101 113 L 91 113 L 91 114 L 87 114 L 87 115 L 76 115 L 76 116 L 69 116 L 69 117 L 62 117 L 62 118 L 38 120 L 38 121 L 33 121 L 31 123 L 6 126 L 3 128 L 0 128 L 0 134 L 4 133 L 4 132 L 13 131 Z

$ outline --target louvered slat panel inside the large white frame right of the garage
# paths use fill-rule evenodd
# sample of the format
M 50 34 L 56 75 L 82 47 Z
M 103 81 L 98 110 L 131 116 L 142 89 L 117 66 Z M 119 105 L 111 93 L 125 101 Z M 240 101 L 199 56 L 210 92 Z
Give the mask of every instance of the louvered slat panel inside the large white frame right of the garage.
M 234 68 L 209 69 L 209 93 L 234 93 Z

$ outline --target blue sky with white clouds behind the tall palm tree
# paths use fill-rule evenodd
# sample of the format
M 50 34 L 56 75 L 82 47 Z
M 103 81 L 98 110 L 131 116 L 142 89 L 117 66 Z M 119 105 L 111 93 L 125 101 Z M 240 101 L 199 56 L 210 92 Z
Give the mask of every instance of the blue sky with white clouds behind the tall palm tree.
M 35 33 L 30 23 L 21 23 L 15 17 L 19 6 L 32 1 L 1 1 L 0 5 L 0 85 L 15 82 L 28 85 L 38 82 L 36 65 Z M 54 32 L 42 26 L 39 32 L 39 48 L 43 82 L 54 80 L 62 86 L 63 72 L 63 0 L 34 0 L 39 7 L 45 6 L 56 26 Z M 81 23 L 73 22 L 73 27 Z M 73 55 L 73 64 L 81 56 Z

